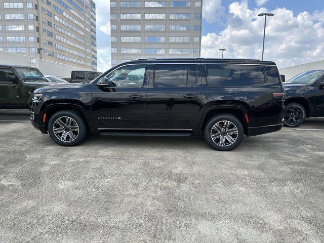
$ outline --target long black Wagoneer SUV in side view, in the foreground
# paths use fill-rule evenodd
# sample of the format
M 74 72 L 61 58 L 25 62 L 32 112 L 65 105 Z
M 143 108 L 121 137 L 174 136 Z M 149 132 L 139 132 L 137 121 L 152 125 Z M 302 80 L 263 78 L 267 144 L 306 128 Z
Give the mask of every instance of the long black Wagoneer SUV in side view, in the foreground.
M 90 83 L 39 88 L 33 126 L 63 146 L 101 135 L 203 134 L 216 150 L 282 128 L 284 88 L 273 62 L 138 59 Z

